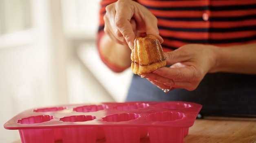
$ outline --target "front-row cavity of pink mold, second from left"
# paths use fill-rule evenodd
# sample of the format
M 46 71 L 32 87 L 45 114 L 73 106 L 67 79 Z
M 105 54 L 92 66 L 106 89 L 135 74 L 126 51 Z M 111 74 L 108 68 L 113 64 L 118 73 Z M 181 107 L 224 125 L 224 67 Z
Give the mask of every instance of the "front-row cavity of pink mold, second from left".
M 83 122 L 83 121 L 90 121 L 96 119 L 95 116 L 90 115 L 78 115 L 78 116 L 69 116 L 60 118 L 60 121 L 64 122 Z

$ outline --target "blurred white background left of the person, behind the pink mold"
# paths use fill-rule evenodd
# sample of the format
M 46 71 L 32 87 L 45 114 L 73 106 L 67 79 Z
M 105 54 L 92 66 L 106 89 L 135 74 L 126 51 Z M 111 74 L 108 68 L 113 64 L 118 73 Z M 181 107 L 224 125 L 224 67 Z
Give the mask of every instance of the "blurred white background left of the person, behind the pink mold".
M 97 54 L 100 0 L 0 0 L 0 137 L 16 114 L 71 103 L 122 102 L 132 72 L 113 73 Z

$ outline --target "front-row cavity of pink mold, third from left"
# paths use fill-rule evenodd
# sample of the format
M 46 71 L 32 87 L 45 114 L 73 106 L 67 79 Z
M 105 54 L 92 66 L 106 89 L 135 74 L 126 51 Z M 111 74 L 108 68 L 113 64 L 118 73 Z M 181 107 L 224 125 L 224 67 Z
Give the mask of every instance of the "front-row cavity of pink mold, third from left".
M 121 114 L 113 114 L 103 118 L 103 121 L 107 122 L 121 122 L 121 121 L 130 121 L 139 118 L 139 114 L 135 113 L 121 113 Z

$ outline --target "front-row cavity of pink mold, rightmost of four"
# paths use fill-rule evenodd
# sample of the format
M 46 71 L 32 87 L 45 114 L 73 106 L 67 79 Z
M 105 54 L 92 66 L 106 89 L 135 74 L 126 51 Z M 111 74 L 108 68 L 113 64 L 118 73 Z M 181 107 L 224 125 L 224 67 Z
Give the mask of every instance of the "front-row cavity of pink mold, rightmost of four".
M 180 112 L 157 112 L 149 114 L 148 119 L 151 121 L 175 121 L 182 119 L 184 114 Z

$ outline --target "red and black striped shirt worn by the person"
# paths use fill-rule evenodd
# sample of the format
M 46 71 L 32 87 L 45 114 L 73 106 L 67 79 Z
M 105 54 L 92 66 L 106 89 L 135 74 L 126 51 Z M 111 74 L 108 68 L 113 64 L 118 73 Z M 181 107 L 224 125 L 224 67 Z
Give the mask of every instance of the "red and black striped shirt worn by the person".
M 102 0 L 99 39 L 106 5 Z M 158 19 L 163 50 L 191 43 L 232 46 L 256 42 L 256 0 L 136 0 Z

